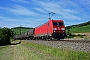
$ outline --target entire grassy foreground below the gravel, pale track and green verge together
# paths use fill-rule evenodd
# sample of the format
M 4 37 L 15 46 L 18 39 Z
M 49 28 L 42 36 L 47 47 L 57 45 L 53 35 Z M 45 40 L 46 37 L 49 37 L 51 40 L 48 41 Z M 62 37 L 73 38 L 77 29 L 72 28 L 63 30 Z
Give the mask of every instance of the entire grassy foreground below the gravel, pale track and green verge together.
M 0 47 L 1 60 L 90 60 L 90 52 L 76 52 L 22 41 Z

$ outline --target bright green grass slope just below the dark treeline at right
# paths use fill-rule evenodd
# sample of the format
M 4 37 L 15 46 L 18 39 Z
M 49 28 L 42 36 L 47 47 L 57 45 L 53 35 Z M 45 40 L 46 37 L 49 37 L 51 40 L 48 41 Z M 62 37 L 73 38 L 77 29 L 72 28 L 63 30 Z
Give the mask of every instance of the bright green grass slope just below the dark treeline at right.
M 72 28 L 72 29 L 70 29 L 70 32 L 71 33 L 90 32 L 90 25 Z

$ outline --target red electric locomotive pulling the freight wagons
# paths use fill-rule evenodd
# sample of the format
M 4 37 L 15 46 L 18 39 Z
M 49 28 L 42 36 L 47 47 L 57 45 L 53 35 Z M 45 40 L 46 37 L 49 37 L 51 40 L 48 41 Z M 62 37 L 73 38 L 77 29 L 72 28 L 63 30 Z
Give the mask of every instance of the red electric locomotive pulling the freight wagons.
M 34 30 L 34 37 L 38 39 L 63 39 L 66 36 L 63 20 L 49 20 Z

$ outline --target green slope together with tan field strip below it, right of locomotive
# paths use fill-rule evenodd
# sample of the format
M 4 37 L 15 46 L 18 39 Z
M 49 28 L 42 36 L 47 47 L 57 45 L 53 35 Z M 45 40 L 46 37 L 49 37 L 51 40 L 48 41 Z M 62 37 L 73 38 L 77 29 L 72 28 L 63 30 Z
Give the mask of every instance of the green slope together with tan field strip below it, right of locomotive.
M 67 27 L 68 28 L 68 27 Z M 69 31 L 66 30 L 67 34 L 72 34 L 70 37 L 85 38 L 90 40 L 90 24 L 85 26 L 71 26 Z

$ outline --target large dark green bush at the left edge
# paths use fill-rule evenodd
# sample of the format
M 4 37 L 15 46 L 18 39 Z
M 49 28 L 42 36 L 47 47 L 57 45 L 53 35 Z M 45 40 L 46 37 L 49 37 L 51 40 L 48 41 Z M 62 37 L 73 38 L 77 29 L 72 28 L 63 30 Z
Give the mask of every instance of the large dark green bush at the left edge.
M 14 35 L 13 31 L 9 28 L 0 28 L 0 45 L 11 44 L 10 37 Z

